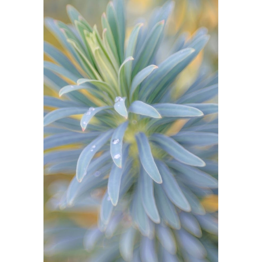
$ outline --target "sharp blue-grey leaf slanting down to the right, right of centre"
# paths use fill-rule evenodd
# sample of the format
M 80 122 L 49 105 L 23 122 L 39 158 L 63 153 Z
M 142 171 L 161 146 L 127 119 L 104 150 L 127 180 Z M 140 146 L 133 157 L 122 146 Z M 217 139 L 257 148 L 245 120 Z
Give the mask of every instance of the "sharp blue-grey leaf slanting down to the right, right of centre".
M 179 162 L 196 167 L 204 167 L 206 165 L 203 160 L 187 151 L 183 146 L 170 137 L 155 133 L 150 137 L 150 139 L 155 141 L 164 151 L 169 153 L 169 155 Z

